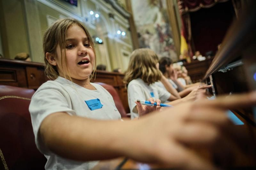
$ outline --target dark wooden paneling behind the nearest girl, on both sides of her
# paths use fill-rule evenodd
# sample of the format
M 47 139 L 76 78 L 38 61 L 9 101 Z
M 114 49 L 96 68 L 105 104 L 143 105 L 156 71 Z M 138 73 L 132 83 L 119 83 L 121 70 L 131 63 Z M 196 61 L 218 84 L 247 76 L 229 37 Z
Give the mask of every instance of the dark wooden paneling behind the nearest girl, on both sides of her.
M 113 85 L 122 100 L 126 113 L 130 112 L 127 89 L 123 83 L 124 74 L 108 71 L 96 71 L 96 78 L 91 82 L 102 82 Z M 44 76 L 44 65 L 36 62 L 0 59 L 0 84 L 16 87 L 38 89 L 47 79 Z

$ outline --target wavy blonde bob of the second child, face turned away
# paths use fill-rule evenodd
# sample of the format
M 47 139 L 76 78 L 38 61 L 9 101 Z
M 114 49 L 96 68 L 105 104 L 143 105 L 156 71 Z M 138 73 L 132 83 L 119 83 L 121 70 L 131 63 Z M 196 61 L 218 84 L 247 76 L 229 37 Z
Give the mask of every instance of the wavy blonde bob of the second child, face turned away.
M 132 52 L 128 70 L 124 76 L 124 84 L 141 78 L 145 83 L 151 84 L 161 79 L 161 72 L 156 68 L 158 57 L 156 53 L 148 48 L 136 49 Z

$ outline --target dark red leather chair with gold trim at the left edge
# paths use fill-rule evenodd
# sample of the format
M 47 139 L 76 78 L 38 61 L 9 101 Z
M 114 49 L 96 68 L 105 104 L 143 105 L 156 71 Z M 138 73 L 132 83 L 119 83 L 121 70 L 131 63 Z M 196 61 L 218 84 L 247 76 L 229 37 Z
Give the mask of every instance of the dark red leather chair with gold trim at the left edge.
M 28 111 L 33 89 L 0 85 L 0 169 L 44 169 Z

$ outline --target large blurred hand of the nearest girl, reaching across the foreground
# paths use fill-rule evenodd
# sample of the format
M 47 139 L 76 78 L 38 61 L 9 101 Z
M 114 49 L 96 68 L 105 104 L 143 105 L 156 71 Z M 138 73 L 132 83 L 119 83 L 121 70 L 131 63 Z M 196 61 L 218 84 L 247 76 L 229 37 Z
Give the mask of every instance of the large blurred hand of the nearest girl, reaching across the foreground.
M 226 114 L 227 109 L 255 104 L 256 92 L 252 92 L 228 100 L 220 97 L 185 102 L 161 114 L 148 114 L 126 129 L 133 137 L 124 134 L 129 145 L 122 148 L 132 148 L 125 152 L 129 158 L 166 168 L 226 169 L 237 161 L 240 166 L 255 166 L 256 156 L 246 145 L 253 140 L 244 137 L 247 133 L 243 129 L 234 129 Z M 236 137 L 242 137 L 239 142 L 247 146 L 245 149 Z

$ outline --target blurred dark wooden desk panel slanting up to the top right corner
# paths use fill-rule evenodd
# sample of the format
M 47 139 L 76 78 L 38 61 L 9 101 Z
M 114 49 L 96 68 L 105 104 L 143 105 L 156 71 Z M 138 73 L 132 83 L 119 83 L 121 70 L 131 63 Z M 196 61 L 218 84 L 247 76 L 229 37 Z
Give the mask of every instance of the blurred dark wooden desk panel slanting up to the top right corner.
M 256 30 L 256 2 L 250 1 L 250 5 L 239 14 L 238 19 L 231 25 L 221 48 L 215 55 L 210 68 L 207 70 L 204 79 L 219 68 L 227 65 L 231 61 L 244 53 L 249 45 L 255 42 Z M 255 48 L 254 48 L 255 51 Z

